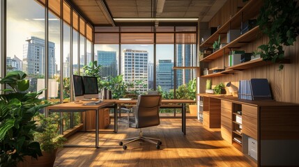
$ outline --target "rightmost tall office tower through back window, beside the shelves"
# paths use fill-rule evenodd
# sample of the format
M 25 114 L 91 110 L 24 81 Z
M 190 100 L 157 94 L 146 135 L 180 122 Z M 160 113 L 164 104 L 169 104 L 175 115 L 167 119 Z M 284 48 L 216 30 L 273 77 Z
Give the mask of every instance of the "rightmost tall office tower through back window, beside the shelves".
M 192 67 L 194 60 L 194 55 L 196 51 L 195 45 L 192 44 L 178 44 L 176 45 L 176 56 L 177 56 L 177 66 L 178 67 Z M 183 84 L 188 84 L 188 82 L 195 77 L 194 70 L 176 70 L 176 87 Z

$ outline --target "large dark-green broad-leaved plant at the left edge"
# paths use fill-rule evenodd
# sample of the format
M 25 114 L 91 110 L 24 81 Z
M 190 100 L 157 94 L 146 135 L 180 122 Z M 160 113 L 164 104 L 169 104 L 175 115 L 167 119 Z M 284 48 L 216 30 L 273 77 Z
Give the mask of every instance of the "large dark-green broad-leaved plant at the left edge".
M 34 116 L 49 103 L 38 99 L 38 93 L 25 93 L 29 88 L 26 74 L 21 71 L 8 72 L 0 80 L 10 88 L 0 95 L 0 166 L 15 166 L 25 155 L 41 156 L 40 144 L 33 141 L 37 130 Z

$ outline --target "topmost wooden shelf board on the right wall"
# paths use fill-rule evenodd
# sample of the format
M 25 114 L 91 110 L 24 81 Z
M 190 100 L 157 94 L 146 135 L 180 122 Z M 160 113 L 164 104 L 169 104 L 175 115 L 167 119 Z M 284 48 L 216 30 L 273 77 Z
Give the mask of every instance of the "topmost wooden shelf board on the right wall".
M 204 41 L 199 47 L 210 47 L 213 45 L 215 40 L 218 40 L 219 35 L 226 35 L 229 29 L 240 29 L 240 22 L 242 20 L 246 21 L 247 19 L 251 19 L 257 13 L 259 13 L 259 9 L 261 8 L 262 1 L 249 1 L 243 8 L 241 8 L 236 15 L 233 15 L 231 19 L 229 19 L 223 26 L 220 27 L 215 33 L 210 35 L 206 41 Z

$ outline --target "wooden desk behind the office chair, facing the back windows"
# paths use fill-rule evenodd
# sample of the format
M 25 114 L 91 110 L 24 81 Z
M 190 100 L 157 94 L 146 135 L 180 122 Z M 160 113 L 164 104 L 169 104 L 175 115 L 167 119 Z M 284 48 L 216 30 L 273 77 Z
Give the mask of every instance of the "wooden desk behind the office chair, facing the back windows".
M 104 102 L 113 102 L 114 104 L 136 104 L 137 100 L 104 100 Z M 162 102 L 161 102 L 161 104 L 181 104 L 183 134 L 186 134 L 186 104 L 187 103 L 195 103 L 195 101 L 194 100 L 174 99 L 174 100 L 162 100 Z M 114 118 L 114 123 L 116 123 L 116 125 L 117 125 L 116 119 Z M 117 126 L 116 126 L 116 132 L 117 132 Z

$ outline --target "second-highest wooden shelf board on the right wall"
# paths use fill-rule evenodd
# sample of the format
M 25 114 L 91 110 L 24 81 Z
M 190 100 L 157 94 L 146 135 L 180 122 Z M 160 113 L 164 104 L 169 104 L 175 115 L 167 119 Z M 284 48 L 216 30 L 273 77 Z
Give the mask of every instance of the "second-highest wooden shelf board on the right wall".
M 202 58 L 200 61 L 213 61 L 216 58 L 219 58 L 221 56 L 224 56 L 224 54 L 229 54 L 230 49 L 234 48 L 240 48 L 243 45 L 247 45 L 247 43 L 252 42 L 257 38 L 257 35 L 260 32 L 259 26 L 255 26 L 250 31 L 247 31 L 243 35 L 240 35 L 240 37 L 236 38 L 229 44 L 225 45 L 221 49 L 215 51 L 214 53 L 206 56 L 205 58 Z

